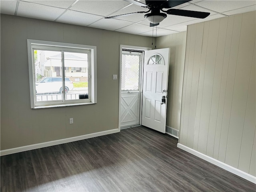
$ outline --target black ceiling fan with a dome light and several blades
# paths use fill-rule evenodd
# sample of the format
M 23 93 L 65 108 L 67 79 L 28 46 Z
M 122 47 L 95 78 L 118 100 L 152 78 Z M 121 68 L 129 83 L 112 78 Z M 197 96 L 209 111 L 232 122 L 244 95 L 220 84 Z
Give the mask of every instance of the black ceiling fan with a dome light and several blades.
M 133 13 L 109 16 L 105 18 L 116 18 L 121 16 L 127 16 L 131 14 L 137 13 L 147 13 L 145 14 L 144 18 L 150 22 L 150 27 L 157 26 L 159 23 L 169 15 L 179 15 L 179 16 L 186 16 L 186 17 L 194 17 L 194 18 L 206 18 L 210 15 L 208 12 L 200 12 L 200 11 L 191 11 L 191 10 L 181 10 L 181 9 L 172 9 L 177 5 L 189 2 L 191 0 L 146 0 L 146 4 L 142 2 L 138 2 L 136 0 L 124 0 L 129 3 L 142 6 L 144 8 L 148 8 L 148 11 L 138 11 Z M 168 10 L 164 10 L 168 9 Z M 160 12 L 162 11 L 162 12 Z M 149 13 L 150 12 L 150 13 Z

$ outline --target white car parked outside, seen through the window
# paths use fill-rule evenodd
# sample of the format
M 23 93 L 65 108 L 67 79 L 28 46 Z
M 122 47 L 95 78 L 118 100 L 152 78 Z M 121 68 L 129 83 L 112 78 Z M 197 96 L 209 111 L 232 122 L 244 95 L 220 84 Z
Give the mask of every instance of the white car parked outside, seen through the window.
M 74 88 L 70 78 L 65 78 L 65 93 Z M 36 93 L 62 93 L 62 77 L 44 77 L 36 82 Z

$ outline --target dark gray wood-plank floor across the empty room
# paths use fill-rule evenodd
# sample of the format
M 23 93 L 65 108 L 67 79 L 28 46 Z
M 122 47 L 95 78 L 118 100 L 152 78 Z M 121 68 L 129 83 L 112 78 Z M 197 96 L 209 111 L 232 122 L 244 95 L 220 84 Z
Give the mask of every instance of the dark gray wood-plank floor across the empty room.
M 255 192 L 256 185 L 142 126 L 1 157 L 1 192 Z

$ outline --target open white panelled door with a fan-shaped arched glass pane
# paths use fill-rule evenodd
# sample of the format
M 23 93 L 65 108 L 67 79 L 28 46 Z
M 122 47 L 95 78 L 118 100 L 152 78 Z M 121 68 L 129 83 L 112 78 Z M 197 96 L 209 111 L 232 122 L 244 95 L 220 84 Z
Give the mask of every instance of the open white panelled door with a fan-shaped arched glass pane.
M 169 48 L 144 52 L 142 125 L 162 133 L 166 130 L 168 70 Z

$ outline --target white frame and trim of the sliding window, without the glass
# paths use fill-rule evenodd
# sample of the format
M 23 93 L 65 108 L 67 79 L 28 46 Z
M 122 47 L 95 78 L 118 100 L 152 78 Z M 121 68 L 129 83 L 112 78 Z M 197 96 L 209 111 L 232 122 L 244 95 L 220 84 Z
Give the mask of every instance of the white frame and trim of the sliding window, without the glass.
M 52 108 L 62 106 L 76 106 L 97 103 L 97 56 L 96 46 L 70 44 L 61 42 L 51 42 L 42 40 L 28 39 L 28 69 L 29 69 L 29 85 L 30 85 L 30 105 L 31 108 Z M 53 50 L 63 52 L 89 52 L 88 54 L 88 99 L 80 100 L 63 100 L 63 101 L 47 101 L 36 102 L 36 78 L 34 69 L 34 49 Z M 64 64 L 63 64 L 64 66 Z M 62 74 L 64 74 L 62 67 Z M 65 97 L 64 97 L 65 98 Z

